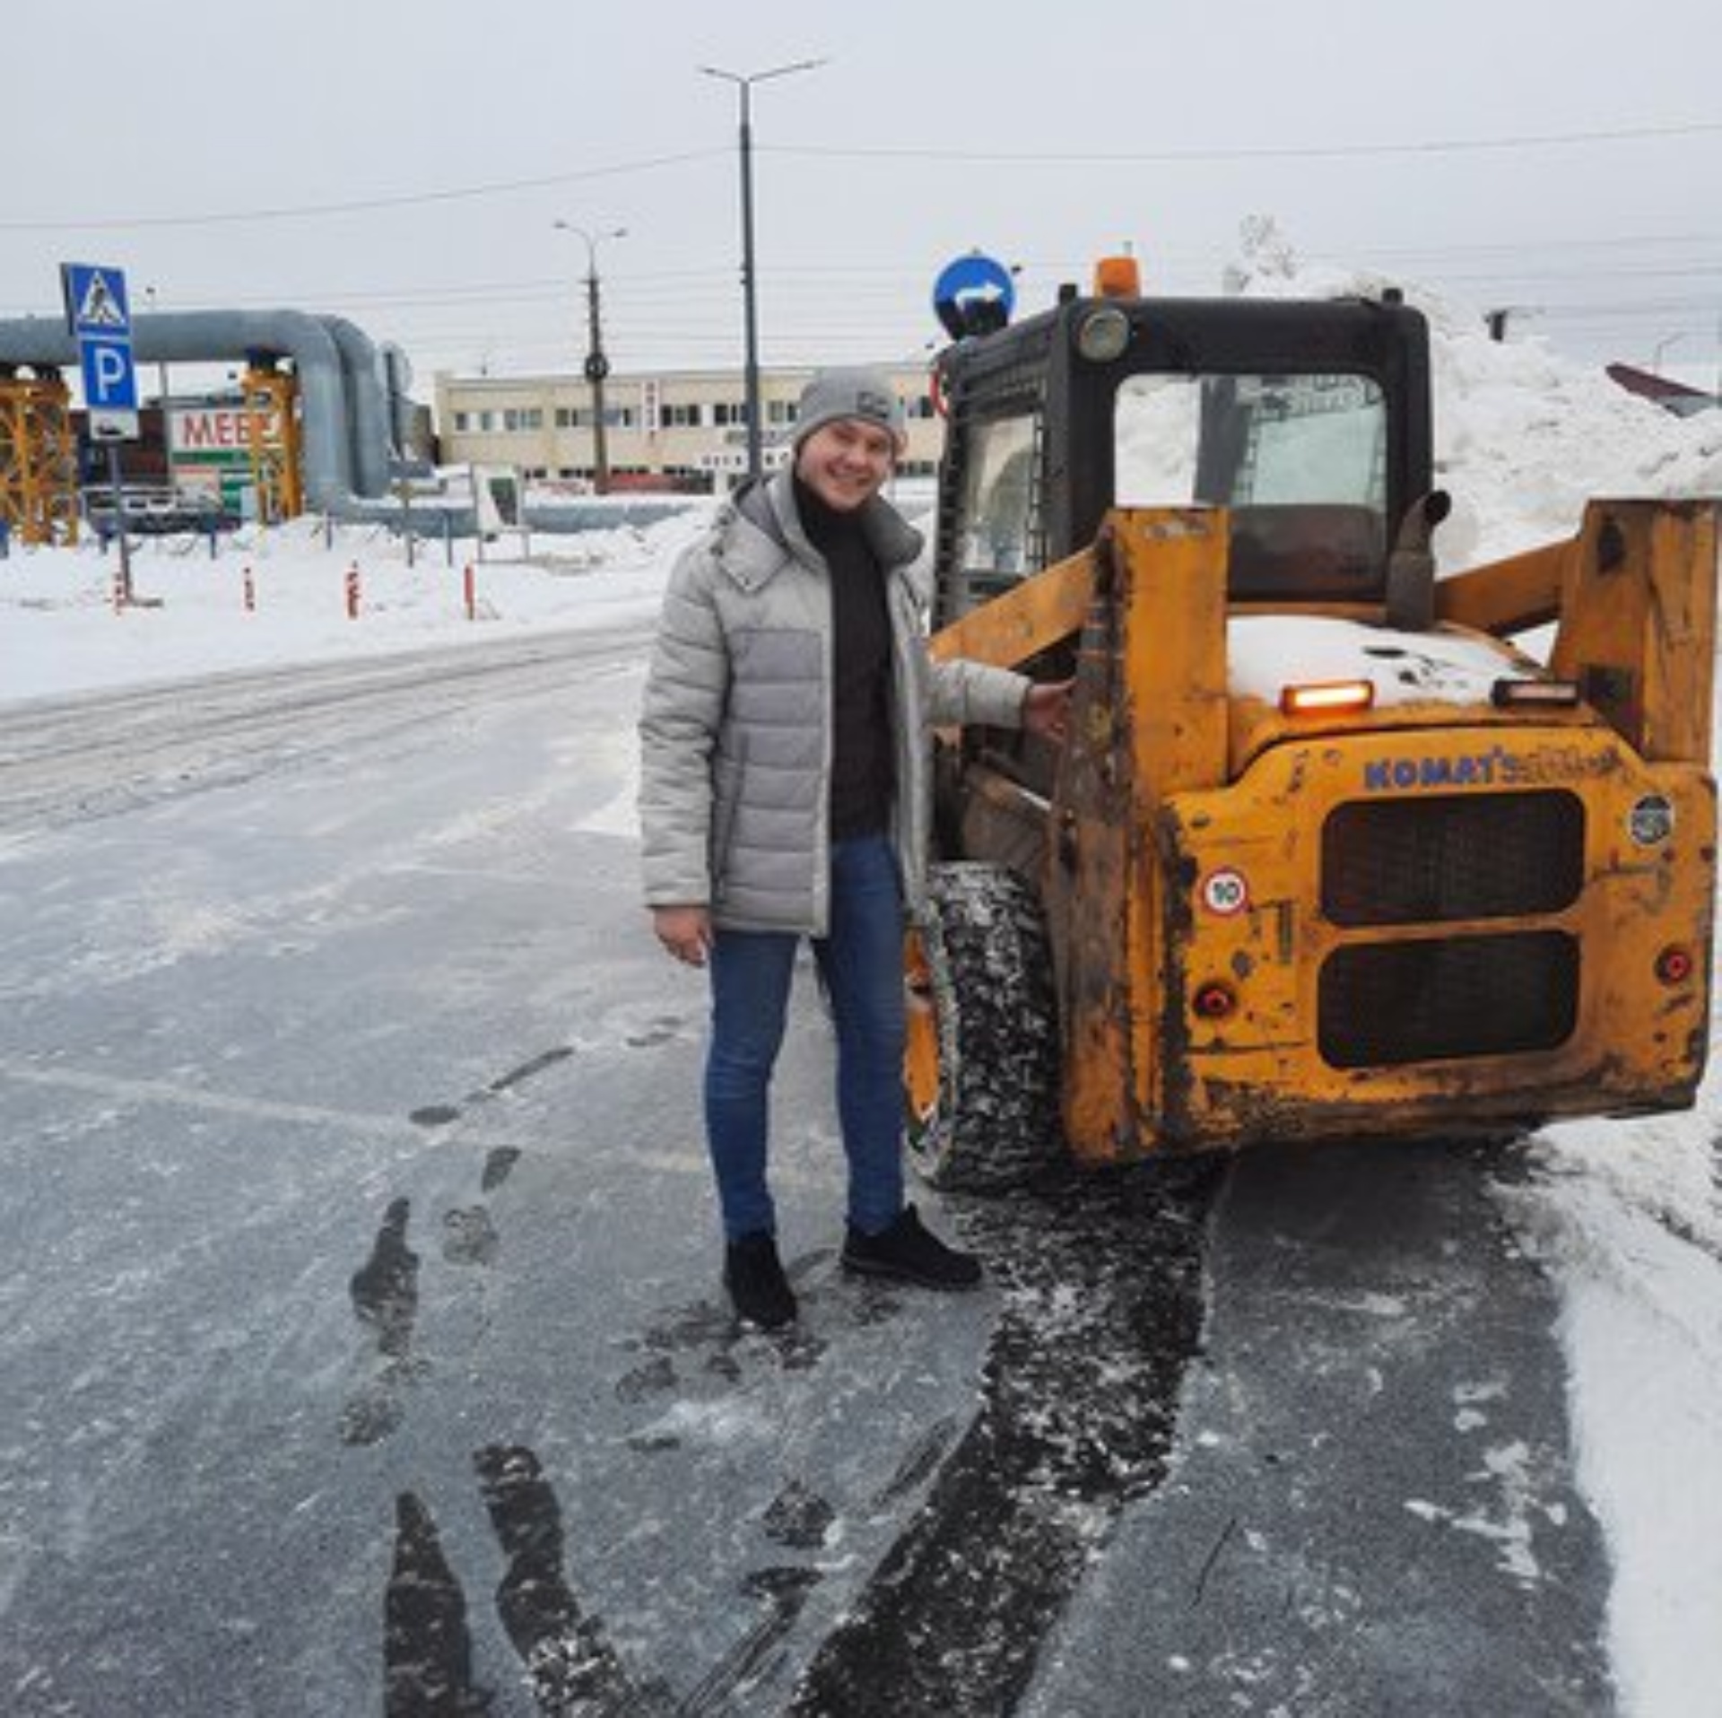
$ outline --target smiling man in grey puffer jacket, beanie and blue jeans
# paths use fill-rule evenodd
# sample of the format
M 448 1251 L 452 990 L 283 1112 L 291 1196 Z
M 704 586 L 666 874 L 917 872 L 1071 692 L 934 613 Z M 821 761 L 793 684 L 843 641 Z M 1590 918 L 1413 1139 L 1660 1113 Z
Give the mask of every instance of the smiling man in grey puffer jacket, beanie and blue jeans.
M 742 1318 L 796 1317 L 766 1184 L 771 1070 L 802 936 L 837 1027 L 844 1265 L 964 1289 L 980 1265 L 902 1189 L 902 927 L 932 820 L 930 729 L 1059 736 L 1068 686 L 926 653 L 921 536 L 880 496 L 902 451 L 885 377 L 808 384 L 790 469 L 737 491 L 670 574 L 641 715 L 646 905 L 711 967 L 706 1137 Z

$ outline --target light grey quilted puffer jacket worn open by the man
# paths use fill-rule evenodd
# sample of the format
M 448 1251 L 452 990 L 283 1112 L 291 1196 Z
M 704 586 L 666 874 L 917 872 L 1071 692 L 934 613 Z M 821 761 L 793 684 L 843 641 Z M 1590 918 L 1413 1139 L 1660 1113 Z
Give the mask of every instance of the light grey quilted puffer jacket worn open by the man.
M 920 903 L 932 834 L 933 725 L 1016 727 L 1030 682 L 926 655 L 921 534 L 882 500 L 863 522 L 892 631 L 904 894 Z M 647 906 L 709 906 L 732 931 L 823 936 L 832 758 L 832 601 L 789 470 L 739 489 L 670 574 L 641 713 Z

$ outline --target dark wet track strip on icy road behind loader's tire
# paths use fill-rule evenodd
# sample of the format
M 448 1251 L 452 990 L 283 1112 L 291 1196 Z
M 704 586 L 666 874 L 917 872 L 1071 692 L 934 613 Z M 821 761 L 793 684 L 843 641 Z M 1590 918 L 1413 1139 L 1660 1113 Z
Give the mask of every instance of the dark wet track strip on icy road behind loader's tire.
M 1223 1163 L 966 1201 L 1004 1287 L 975 1422 L 797 1685 L 794 1718 L 1009 1711 L 1123 1506 L 1166 1472 Z

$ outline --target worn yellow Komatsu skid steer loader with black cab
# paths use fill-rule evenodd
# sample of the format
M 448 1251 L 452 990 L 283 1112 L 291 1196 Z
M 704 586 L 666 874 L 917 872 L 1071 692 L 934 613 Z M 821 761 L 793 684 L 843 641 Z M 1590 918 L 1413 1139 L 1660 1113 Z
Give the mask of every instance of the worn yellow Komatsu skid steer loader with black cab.
M 940 741 L 930 1180 L 1691 1105 L 1715 501 L 1436 579 L 1393 295 L 1066 291 L 940 383 L 933 650 L 1076 684 L 1061 750 Z

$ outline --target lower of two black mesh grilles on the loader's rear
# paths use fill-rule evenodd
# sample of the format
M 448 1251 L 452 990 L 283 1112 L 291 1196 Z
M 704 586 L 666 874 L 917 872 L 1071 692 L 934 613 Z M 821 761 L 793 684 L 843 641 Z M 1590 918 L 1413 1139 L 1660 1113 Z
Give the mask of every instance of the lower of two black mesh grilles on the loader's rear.
M 1321 968 L 1319 1043 L 1336 1068 L 1553 1049 L 1579 1012 L 1564 931 L 1357 943 Z

